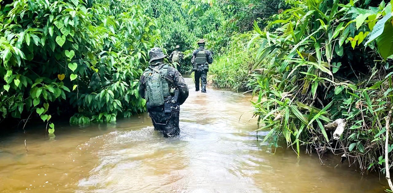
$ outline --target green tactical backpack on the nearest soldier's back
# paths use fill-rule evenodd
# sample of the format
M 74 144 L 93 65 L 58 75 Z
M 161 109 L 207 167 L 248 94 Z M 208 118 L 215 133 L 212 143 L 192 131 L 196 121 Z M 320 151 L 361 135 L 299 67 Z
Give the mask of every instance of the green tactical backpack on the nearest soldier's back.
M 158 68 L 148 67 L 143 73 L 146 79 L 145 96 L 152 107 L 161 106 L 165 103 L 164 98 L 171 95 L 168 82 L 168 64 L 162 64 Z

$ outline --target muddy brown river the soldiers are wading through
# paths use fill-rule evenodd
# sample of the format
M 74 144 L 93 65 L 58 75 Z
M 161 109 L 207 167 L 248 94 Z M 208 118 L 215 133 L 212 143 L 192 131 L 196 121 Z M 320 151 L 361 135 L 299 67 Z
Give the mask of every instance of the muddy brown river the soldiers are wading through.
M 250 95 L 208 89 L 180 111 L 180 136 L 163 138 L 147 113 L 116 124 L 57 124 L 0 138 L 0 192 L 383 192 L 338 157 L 271 148 L 256 139 Z M 266 133 L 259 132 L 260 137 Z M 28 149 L 26 153 L 25 142 Z M 337 165 L 338 164 L 338 165 Z

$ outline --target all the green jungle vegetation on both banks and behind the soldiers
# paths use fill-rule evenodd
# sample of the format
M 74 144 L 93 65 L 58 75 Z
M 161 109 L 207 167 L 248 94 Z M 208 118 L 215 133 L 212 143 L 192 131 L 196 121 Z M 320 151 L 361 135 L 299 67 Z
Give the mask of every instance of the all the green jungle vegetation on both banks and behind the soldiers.
M 387 0 L 0 0 L 0 123 L 40 120 L 53 133 L 54 117 L 142 113 L 149 49 L 180 45 L 186 73 L 204 38 L 215 58 L 208 79 L 252 91 L 264 141 L 385 172 L 392 18 Z

